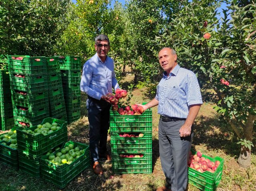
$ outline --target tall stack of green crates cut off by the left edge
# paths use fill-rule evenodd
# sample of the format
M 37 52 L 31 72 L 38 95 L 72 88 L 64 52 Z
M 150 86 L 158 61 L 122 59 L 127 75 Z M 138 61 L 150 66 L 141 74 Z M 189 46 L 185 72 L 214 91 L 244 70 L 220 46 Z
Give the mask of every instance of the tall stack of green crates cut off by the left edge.
M 0 69 L 0 130 L 14 126 L 10 77 L 8 70 Z

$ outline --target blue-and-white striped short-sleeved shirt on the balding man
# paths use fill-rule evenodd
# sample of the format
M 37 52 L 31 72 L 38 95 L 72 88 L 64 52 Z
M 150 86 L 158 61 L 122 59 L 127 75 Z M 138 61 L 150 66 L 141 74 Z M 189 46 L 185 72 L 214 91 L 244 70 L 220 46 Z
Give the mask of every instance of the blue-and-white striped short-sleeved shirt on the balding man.
M 189 106 L 202 104 L 202 95 L 196 75 L 176 65 L 170 75 L 163 75 L 156 90 L 158 114 L 187 118 Z

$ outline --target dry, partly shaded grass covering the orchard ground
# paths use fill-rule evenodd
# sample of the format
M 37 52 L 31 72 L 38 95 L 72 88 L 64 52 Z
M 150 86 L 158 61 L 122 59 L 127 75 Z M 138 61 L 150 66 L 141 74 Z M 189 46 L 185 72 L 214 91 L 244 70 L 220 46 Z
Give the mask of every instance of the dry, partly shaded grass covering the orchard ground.
M 128 84 L 128 83 L 127 83 Z M 148 92 L 146 89 L 135 89 L 131 104 L 147 102 Z M 68 125 L 68 140 L 86 143 L 89 141 L 88 118 L 86 110 L 86 95 L 81 95 L 81 118 Z M 165 177 L 162 172 L 159 149 L 158 149 L 158 126 L 159 115 L 157 107 L 152 108 L 153 113 L 153 173 L 152 174 L 112 174 L 111 163 L 101 161 L 104 174 L 99 177 L 92 172 L 91 168 L 86 169 L 75 177 L 64 189 L 58 189 L 51 183 L 42 179 L 36 179 L 15 171 L 0 164 L 0 191 L 154 191 L 157 187 L 163 186 Z M 228 136 L 224 136 L 224 132 Z M 256 155 L 255 148 L 252 150 L 252 165 L 246 170 L 238 166 L 236 159 L 239 155 L 237 138 L 234 132 L 226 123 L 219 120 L 218 114 L 209 104 L 203 104 L 195 121 L 194 138 L 192 147 L 200 150 L 203 154 L 224 158 L 222 180 L 217 191 L 245 191 L 256 190 Z M 110 150 L 110 137 L 108 137 L 108 150 Z M 188 186 L 188 191 L 198 191 L 192 185 Z

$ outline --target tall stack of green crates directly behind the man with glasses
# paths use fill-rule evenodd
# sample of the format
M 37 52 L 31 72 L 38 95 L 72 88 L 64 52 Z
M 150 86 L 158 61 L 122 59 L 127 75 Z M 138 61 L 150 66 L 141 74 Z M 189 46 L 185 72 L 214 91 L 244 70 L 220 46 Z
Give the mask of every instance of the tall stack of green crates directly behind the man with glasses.
M 81 58 L 66 56 L 64 63 L 60 63 L 60 73 L 68 123 L 71 123 L 80 118 Z

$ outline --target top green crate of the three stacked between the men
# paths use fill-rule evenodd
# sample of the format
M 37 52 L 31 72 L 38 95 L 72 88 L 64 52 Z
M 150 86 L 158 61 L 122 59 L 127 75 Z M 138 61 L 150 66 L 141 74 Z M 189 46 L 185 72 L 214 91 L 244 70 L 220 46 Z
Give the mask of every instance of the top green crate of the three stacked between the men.
M 111 107 L 110 132 L 152 132 L 152 109 L 141 115 L 120 115 Z

